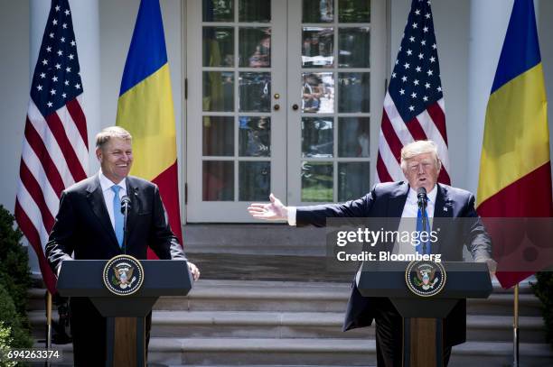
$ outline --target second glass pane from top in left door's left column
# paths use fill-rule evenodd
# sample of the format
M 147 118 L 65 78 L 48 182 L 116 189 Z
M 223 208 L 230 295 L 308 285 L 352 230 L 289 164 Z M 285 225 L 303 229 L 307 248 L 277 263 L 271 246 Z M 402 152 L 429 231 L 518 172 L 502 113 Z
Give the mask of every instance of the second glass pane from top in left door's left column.
M 234 29 L 231 27 L 203 27 L 203 60 L 206 67 L 234 65 Z

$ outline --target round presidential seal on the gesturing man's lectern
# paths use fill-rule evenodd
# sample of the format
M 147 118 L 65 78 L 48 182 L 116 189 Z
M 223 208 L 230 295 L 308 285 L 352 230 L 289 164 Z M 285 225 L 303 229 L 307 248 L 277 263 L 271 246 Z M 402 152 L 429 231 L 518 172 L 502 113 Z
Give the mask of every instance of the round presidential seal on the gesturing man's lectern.
M 412 261 L 405 271 L 408 289 L 420 297 L 436 296 L 444 289 L 446 278 L 441 262 Z

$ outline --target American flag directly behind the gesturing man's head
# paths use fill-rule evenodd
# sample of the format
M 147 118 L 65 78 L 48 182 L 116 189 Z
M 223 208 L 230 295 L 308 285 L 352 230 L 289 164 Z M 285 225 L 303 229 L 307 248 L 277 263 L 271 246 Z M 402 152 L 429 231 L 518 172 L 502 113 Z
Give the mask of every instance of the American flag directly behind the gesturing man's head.
M 399 46 L 380 126 L 377 182 L 403 180 L 404 145 L 432 140 L 442 161 L 439 182 L 450 183 L 445 105 L 430 1 L 413 0 Z

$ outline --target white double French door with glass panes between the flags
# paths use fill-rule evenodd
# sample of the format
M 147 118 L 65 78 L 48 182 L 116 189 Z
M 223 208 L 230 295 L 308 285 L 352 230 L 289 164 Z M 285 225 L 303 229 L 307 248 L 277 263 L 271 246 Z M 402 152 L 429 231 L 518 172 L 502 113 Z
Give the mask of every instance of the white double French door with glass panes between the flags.
M 253 222 L 270 192 L 302 205 L 369 190 L 384 1 L 189 0 L 186 14 L 188 222 Z

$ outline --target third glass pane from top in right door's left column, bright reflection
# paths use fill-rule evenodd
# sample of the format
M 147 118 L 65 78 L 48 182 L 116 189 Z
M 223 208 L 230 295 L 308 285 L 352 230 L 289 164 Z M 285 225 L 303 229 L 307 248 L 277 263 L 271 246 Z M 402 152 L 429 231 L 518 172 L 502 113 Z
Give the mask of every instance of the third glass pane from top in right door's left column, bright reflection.
M 334 75 L 330 73 L 302 73 L 302 112 L 333 114 Z

